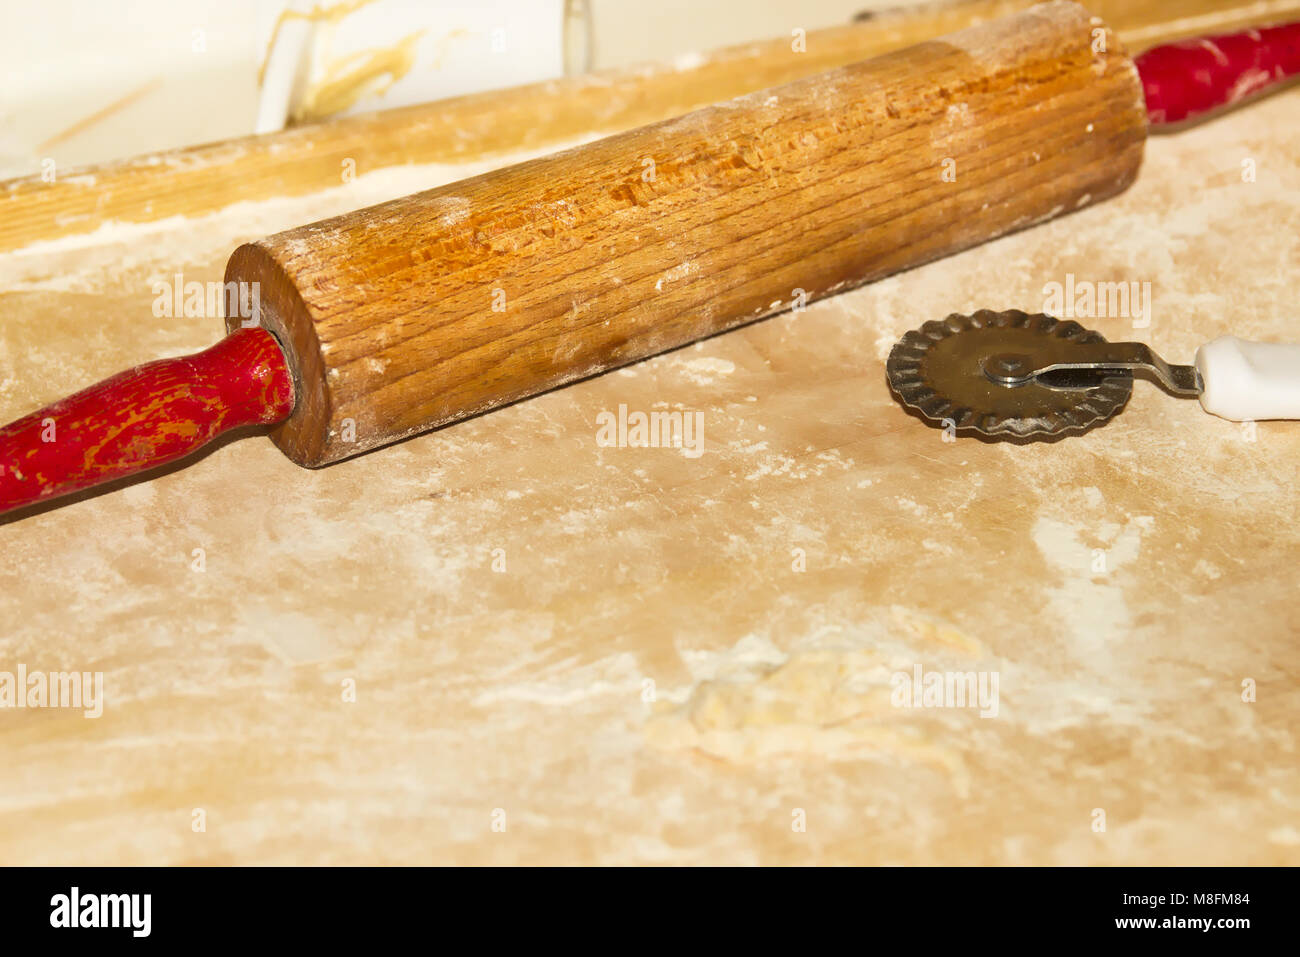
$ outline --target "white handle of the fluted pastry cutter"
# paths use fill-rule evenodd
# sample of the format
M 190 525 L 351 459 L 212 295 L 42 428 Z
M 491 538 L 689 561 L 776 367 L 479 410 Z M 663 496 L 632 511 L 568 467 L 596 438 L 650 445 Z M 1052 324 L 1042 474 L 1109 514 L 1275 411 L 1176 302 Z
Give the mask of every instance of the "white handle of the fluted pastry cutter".
M 1221 335 L 1196 350 L 1206 412 L 1235 423 L 1300 419 L 1300 345 Z

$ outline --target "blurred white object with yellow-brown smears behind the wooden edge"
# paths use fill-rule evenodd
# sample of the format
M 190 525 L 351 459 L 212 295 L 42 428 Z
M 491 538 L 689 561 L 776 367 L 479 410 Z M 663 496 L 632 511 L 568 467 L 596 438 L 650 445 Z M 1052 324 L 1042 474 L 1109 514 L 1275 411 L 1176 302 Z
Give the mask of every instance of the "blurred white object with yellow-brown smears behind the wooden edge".
M 581 0 L 294 0 L 269 39 L 256 131 L 581 72 L 586 9 Z

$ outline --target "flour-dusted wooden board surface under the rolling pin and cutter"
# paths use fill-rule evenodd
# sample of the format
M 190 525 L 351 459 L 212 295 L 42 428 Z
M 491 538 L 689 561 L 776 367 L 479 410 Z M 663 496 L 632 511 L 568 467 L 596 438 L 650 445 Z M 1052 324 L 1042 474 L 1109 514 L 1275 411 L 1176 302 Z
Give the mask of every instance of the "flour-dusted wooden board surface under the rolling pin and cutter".
M 304 471 L 247 438 L 0 525 L 0 670 L 105 687 L 94 719 L 0 710 L 0 859 L 1300 862 L 1300 425 L 1139 384 L 1084 437 L 949 443 L 883 372 L 906 329 L 1071 276 L 1149 282 L 1148 326 L 1088 322 L 1170 360 L 1297 338 L 1297 107 L 1153 139 L 1105 204 L 372 455 Z M 156 316 L 155 283 L 482 168 L 4 256 L 0 417 L 221 334 Z M 603 446 L 620 407 L 702 413 L 703 454 Z M 997 715 L 894 707 L 918 664 L 996 672 Z

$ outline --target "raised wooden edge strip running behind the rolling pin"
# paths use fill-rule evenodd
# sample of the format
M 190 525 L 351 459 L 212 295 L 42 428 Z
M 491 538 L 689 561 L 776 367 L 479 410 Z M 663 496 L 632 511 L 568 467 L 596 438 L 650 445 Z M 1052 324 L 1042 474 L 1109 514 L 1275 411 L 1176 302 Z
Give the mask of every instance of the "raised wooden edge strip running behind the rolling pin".
M 618 133 L 768 86 L 858 62 L 972 23 L 1024 9 L 1030 0 L 968 0 L 878 14 L 790 36 L 748 43 L 688 64 L 646 65 L 568 77 L 207 143 L 0 186 L 0 251 L 79 235 L 103 222 L 155 222 L 268 196 L 300 196 L 341 185 L 344 161 L 359 174 L 387 166 L 463 163 Z M 1091 0 L 1131 52 L 1157 43 L 1300 17 L 1300 0 Z M 57 159 L 57 157 L 56 157 Z

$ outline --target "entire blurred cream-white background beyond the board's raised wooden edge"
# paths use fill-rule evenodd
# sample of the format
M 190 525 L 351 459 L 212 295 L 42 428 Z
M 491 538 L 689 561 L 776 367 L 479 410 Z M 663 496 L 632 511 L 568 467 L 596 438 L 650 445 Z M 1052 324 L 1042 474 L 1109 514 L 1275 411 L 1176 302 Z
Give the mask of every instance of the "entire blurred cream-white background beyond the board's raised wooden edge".
M 844 23 L 897 0 L 4 0 L 0 178 Z

